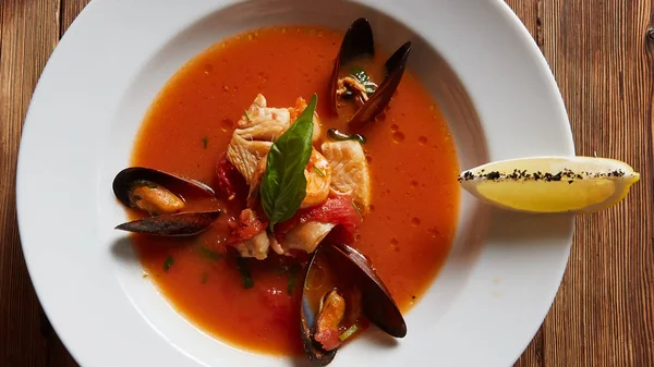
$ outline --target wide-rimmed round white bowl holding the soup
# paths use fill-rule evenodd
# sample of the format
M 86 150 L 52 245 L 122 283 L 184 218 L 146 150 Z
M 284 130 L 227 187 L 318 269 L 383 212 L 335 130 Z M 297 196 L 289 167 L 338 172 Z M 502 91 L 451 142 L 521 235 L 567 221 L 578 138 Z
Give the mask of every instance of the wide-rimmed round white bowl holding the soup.
M 93 1 L 48 62 L 27 114 L 17 172 L 25 258 L 44 308 L 83 366 L 288 366 L 244 352 L 175 313 L 113 225 L 110 188 L 153 98 L 190 58 L 270 24 L 346 29 L 366 16 L 380 45 L 411 38 L 409 68 L 448 118 L 462 169 L 574 154 L 540 50 L 489 1 Z M 456 243 L 398 343 L 368 332 L 332 366 L 510 366 L 562 277 L 571 216 L 489 210 L 463 195 Z

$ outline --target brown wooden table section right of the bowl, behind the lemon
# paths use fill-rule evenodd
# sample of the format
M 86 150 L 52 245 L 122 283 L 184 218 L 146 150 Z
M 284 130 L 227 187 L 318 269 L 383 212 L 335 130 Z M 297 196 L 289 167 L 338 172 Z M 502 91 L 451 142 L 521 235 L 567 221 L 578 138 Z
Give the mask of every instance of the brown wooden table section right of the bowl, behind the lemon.
M 577 154 L 620 159 L 643 175 L 625 203 L 578 218 L 561 288 L 517 366 L 653 366 L 651 2 L 508 3 L 554 71 Z

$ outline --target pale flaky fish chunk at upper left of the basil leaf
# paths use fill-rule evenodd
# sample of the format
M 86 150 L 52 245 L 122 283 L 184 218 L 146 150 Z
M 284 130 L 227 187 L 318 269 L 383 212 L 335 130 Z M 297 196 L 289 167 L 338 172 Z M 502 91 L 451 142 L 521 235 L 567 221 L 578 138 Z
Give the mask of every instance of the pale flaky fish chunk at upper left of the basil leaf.
M 298 98 L 295 107 L 267 107 L 266 98 L 259 94 L 245 110 L 232 134 L 227 158 L 249 185 L 252 185 L 257 164 L 270 150 L 272 142 L 291 126 L 291 122 L 295 121 L 305 108 L 306 101 L 302 98 Z M 314 114 L 314 142 L 319 135 L 320 121 L 317 114 Z

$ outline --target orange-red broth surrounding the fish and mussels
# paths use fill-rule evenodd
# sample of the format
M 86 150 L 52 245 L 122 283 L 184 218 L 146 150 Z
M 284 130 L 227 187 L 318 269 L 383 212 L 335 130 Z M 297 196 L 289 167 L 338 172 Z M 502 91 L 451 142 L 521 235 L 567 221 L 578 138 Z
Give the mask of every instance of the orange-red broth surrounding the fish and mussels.
M 342 33 L 326 28 L 286 26 L 211 46 L 157 96 L 131 163 L 217 187 L 217 158 L 258 93 L 269 107 L 291 107 L 298 97 L 308 100 L 317 93 L 323 133 L 329 127 L 347 131 L 342 117 L 339 120 L 327 109 L 328 81 L 341 39 Z M 375 62 L 380 65 L 388 54 L 377 51 Z M 379 75 L 373 77 L 379 83 Z M 437 106 L 411 72 L 404 73 L 384 115 L 359 132 L 367 138 L 373 206 L 351 245 L 371 258 L 407 311 L 429 286 L 450 249 L 459 201 L 455 145 Z M 247 259 L 254 286 L 245 289 L 225 244 L 227 218 L 238 211 L 220 200 L 201 200 L 189 208 L 210 207 L 226 213 L 196 237 L 133 235 L 146 273 L 179 311 L 228 343 L 274 355 L 303 353 L 299 334 L 303 271 L 275 254 L 264 261 Z

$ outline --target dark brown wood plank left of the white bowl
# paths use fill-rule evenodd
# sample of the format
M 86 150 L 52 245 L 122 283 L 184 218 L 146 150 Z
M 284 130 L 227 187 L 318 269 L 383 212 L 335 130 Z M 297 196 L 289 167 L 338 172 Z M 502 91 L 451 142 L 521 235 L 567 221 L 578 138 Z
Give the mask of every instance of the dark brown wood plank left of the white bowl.
M 58 0 L 2 0 L 0 5 L 0 366 L 75 366 L 38 304 L 15 222 L 22 124 L 59 40 L 59 11 Z

